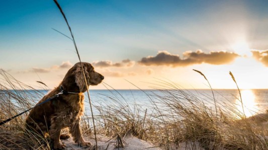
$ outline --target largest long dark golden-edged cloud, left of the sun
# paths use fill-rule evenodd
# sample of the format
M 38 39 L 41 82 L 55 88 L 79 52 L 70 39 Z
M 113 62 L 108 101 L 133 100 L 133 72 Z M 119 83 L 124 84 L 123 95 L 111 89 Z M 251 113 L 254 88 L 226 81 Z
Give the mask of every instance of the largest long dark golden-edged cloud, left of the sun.
M 197 50 L 196 52 L 186 51 L 183 53 L 183 58 L 181 58 L 178 54 L 158 51 L 156 56 L 143 57 L 139 63 L 143 65 L 171 65 L 173 67 L 200 63 L 226 64 L 232 62 L 238 56 L 234 52 L 210 51 L 209 53 L 204 53 L 202 50 Z

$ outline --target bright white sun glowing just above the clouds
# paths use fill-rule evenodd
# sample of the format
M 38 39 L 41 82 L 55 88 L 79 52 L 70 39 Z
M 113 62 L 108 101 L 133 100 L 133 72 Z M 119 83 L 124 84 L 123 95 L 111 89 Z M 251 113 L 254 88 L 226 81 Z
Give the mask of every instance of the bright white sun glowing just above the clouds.
M 236 53 L 238 53 L 242 56 L 251 56 L 252 55 L 252 53 L 250 52 L 250 48 L 248 46 L 248 43 L 245 41 L 236 42 L 231 47 Z

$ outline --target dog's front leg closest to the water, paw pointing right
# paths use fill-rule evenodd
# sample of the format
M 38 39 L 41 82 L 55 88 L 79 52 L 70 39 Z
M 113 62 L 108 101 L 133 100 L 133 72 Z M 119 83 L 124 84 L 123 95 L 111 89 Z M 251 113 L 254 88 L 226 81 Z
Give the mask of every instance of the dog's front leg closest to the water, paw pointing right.
M 70 125 L 69 131 L 73 137 L 74 142 L 78 143 L 83 147 L 92 145 L 91 142 L 85 141 L 84 138 L 82 137 L 79 120 L 75 120 L 75 122 Z

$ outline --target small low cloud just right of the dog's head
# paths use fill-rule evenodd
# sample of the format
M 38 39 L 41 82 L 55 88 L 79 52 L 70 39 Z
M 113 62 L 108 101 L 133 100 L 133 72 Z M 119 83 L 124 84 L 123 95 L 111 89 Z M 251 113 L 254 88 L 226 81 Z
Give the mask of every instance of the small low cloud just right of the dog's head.
M 135 61 L 131 61 L 130 59 L 124 59 L 121 62 L 113 63 L 110 60 L 103 60 L 103 61 L 95 61 L 92 63 L 96 67 L 132 67 L 135 64 Z

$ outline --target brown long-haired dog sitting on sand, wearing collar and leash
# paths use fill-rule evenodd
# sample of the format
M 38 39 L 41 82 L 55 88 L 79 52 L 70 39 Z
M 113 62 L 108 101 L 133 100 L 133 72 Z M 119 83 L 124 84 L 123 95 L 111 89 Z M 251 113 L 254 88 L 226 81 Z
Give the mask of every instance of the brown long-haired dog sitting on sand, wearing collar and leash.
M 104 76 L 94 70 L 94 67 L 87 62 L 82 62 L 86 81 L 88 85 L 97 85 L 102 82 Z M 61 86 L 61 87 L 60 87 Z M 79 121 L 84 110 L 84 94 L 87 90 L 82 67 L 80 62 L 74 64 L 68 70 L 61 84 L 45 95 L 38 103 L 59 93 L 64 93 L 52 100 L 33 108 L 26 118 L 26 128 L 46 136 L 49 133 L 54 149 L 65 147 L 61 139 L 69 137 L 68 134 L 61 134 L 61 129 L 69 127 L 74 142 L 81 146 L 90 146 L 81 136 Z

